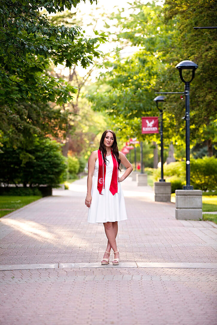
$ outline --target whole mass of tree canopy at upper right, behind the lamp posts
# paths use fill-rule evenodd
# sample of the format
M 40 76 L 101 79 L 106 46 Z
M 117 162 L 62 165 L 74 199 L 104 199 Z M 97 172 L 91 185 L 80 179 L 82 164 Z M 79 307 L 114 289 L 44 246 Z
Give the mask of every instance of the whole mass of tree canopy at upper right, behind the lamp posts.
M 111 25 L 121 30 L 114 35 L 120 45 L 89 99 L 95 110 L 106 110 L 114 117 L 117 129 L 124 131 L 123 137 L 142 138 L 141 116 L 158 114 L 154 92 L 184 90 L 175 66 L 190 59 L 199 66 L 190 92 L 191 144 L 206 141 L 209 149 L 216 133 L 216 30 L 196 31 L 193 27 L 212 26 L 215 5 L 213 0 L 166 0 L 163 7 L 137 1 L 130 14 L 119 10 L 111 17 Z M 124 58 L 119 51 L 127 45 L 137 46 L 138 50 Z M 165 140 L 182 145 L 184 101 L 179 95 L 168 95 L 164 108 Z

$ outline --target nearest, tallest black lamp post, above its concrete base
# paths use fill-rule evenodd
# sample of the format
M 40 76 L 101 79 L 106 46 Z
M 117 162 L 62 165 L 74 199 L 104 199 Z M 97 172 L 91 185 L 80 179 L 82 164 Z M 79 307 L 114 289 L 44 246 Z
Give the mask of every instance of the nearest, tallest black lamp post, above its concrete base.
M 195 70 L 198 65 L 193 61 L 185 60 L 177 64 L 181 81 L 185 83 L 185 143 L 186 143 L 186 186 L 183 189 L 194 189 L 190 185 L 190 82 L 194 79 Z M 192 70 L 192 78 L 185 81 L 182 77 L 182 70 Z

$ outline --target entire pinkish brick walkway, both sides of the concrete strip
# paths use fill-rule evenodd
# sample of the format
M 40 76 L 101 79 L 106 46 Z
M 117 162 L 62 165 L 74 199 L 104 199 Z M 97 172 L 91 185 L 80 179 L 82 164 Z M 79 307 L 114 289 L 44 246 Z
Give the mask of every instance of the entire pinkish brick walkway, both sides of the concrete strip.
M 121 261 L 186 268 L 36 265 L 1 271 L 3 325 L 217 324 L 216 225 L 176 220 L 173 203 L 154 202 L 151 188 L 137 187 L 130 177 L 122 188 L 128 220 L 119 223 Z M 1 265 L 99 262 L 105 233 L 103 225 L 87 223 L 85 191 L 81 179 L 70 191 L 55 190 L 1 218 Z

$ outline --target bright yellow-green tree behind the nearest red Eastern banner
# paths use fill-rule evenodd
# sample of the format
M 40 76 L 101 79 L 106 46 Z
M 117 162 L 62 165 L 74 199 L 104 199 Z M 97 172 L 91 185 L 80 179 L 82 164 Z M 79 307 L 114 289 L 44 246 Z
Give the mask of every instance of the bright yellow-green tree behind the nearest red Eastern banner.
M 164 24 L 162 7 L 154 3 L 144 5 L 134 2 L 132 9 L 133 13 L 126 19 L 123 19 L 124 11 L 111 19 L 116 19 L 118 27 L 123 30 L 116 37 L 122 42 L 120 46 L 140 46 L 140 50 L 123 58 L 119 46 L 115 55 L 106 62 L 108 72 L 101 74 L 95 91 L 88 94 L 88 99 L 95 110 L 104 110 L 112 117 L 116 130 L 122 131 L 123 140 L 137 136 L 140 140 L 159 142 L 158 135 L 141 135 L 141 116 L 159 114 L 153 98 L 156 82 L 161 78 L 162 70 L 165 71 L 166 63 L 157 49 L 159 43 L 169 44 L 167 36 L 173 26 L 172 23 Z M 147 44 L 144 45 L 144 42 Z M 178 140 L 171 127 L 171 117 L 171 113 L 164 117 L 168 144 L 171 139 Z

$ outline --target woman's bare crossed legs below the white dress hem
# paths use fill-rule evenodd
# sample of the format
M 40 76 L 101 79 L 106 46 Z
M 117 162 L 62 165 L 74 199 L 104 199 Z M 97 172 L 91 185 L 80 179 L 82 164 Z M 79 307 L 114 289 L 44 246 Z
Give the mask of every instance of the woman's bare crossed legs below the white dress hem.
M 111 248 L 113 249 L 114 252 L 117 252 L 117 244 L 116 244 L 116 236 L 118 233 L 118 222 L 106 222 L 104 223 L 104 227 L 105 227 L 105 232 L 106 232 L 106 236 L 108 238 L 108 244 L 107 244 L 107 252 L 110 252 Z M 109 254 L 105 253 L 104 258 L 109 258 Z M 115 253 L 114 257 L 119 258 L 119 253 Z M 104 260 L 103 260 L 104 261 Z

